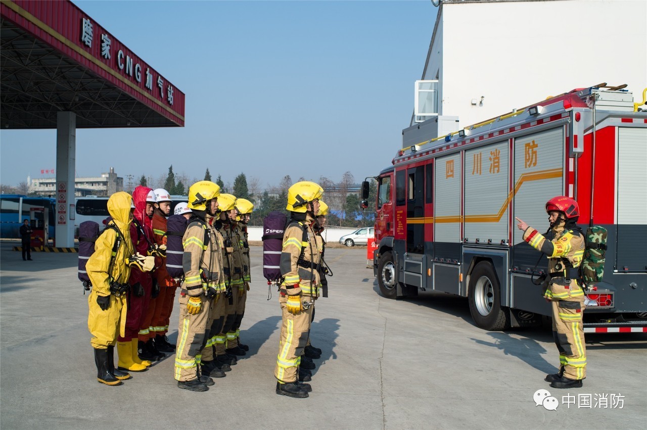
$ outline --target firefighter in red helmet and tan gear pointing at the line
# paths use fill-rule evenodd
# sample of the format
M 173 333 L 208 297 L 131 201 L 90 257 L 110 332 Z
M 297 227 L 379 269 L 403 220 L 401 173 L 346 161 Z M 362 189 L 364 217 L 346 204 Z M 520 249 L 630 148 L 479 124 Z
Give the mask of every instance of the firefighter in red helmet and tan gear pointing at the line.
M 558 196 L 546 203 L 553 240 L 549 241 L 521 219 L 517 227 L 523 240 L 543 252 L 549 259 L 549 286 L 544 297 L 553 307 L 553 337 L 560 352 L 560 370 L 545 381 L 553 388 L 582 387 L 586 378 L 586 347 L 582 328 L 584 290 L 578 284 L 578 266 L 584 256 L 584 234 L 577 227 L 578 204 L 569 197 Z

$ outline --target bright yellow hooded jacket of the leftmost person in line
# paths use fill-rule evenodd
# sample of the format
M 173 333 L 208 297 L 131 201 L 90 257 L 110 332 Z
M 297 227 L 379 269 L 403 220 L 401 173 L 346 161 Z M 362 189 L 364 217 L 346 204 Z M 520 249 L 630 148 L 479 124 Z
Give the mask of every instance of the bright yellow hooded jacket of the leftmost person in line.
M 110 296 L 110 277 L 115 282 L 125 284 L 130 276 L 130 266 L 126 263 L 133 254 L 133 244 L 130 240 L 130 196 L 124 191 L 113 194 L 108 200 L 108 211 L 113 218 L 109 224 L 114 224 L 122 235 L 122 242 L 116 252 L 113 267 L 110 267 L 113 246 L 117 232 L 107 228 L 94 242 L 94 253 L 85 264 L 85 270 L 92 283 L 92 288 L 98 296 Z

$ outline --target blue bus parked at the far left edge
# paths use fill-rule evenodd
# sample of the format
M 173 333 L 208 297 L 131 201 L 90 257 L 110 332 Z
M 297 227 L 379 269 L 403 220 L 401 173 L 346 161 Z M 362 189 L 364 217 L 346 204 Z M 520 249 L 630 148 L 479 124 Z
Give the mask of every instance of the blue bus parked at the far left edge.
M 0 237 L 20 239 L 19 229 L 30 218 L 30 208 L 47 208 L 49 211 L 47 235 L 54 237 L 56 226 L 56 199 L 52 197 L 28 197 L 21 194 L 0 194 Z

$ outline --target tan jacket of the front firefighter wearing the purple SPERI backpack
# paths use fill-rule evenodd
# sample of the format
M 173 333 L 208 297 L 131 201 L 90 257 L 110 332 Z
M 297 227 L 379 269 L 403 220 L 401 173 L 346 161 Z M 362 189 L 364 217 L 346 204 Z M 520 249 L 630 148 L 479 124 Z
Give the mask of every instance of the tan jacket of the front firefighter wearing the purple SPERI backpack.
M 285 288 L 289 296 L 318 296 L 319 271 L 313 265 L 321 263 L 322 242 L 316 239 L 313 222 L 313 217 L 307 213 L 305 220 L 291 220 L 283 233 L 281 288 Z

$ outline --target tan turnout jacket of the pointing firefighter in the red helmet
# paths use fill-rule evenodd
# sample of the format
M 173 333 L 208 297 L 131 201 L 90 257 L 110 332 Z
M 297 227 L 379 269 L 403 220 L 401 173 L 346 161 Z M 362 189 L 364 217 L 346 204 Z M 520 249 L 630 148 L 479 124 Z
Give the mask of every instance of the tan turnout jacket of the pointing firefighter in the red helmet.
M 577 268 L 582 263 L 586 244 L 577 230 L 565 230 L 564 225 L 553 228 L 554 239 L 549 241 L 532 227 L 523 232 L 523 240 L 532 248 L 548 257 L 548 272 L 551 276 L 544 297 L 565 301 L 584 301 L 584 290 L 578 285 L 577 276 L 568 274 L 569 266 Z

